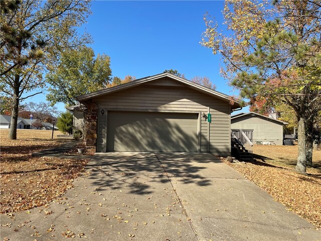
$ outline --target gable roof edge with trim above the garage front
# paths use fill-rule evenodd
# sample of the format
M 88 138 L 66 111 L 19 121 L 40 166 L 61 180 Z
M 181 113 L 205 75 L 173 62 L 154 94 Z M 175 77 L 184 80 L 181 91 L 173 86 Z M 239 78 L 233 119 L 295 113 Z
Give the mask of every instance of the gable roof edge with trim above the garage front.
M 129 83 L 120 84 L 120 85 L 117 85 L 117 86 L 114 86 L 114 87 L 111 87 L 111 88 L 106 88 L 106 89 L 98 90 L 98 91 L 95 91 L 95 92 L 92 92 L 92 93 L 89 93 L 89 94 L 80 95 L 80 96 L 77 97 L 77 100 L 79 102 L 81 102 L 81 103 L 85 103 L 85 101 L 88 100 L 88 99 L 91 99 L 91 98 L 94 98 L 94 97 L 97 97 L 97 96 L 101 96 L 101 95 L 105 95 L 105 94 L 110 94 L 110 93 L 113 93 L 113 92 L 116 92 L 116 91 L 120 91 L 120 90 L 124 90 L 124 89 L 128 89 L 128 88 L 132 88 L 134 86 L 137 86 L 137 85 L 140 85 L 140 84 L 144 84 L 146 82 L 153 81 L 153 80 L 156 80 L 156 79 L 159 79 L 159 78 L 163 78 L 163 77 L 169 77 L 169 78 L 171 78 L 173 80 L 176 80 L 176 81 L 178 81 L 180 83 L 186 84 L 186 85 L 188 85 L 189 87 L 191 87 L 191 88 L 193 88 L 195 90 L 198 90 L 200 92 L 203 92 L 203 93 L 206 93 L 208 95 L 214 96 L 216 98 L 222 99 L 224 101 L 231 102 L 231 100 L 232 100 L 232 97 L 229 96 L 229 95 L 226 95 L 226 94 L 223 94 L 223 93 L 218 92 L 216 90 L 207 88 L 207 87 L 205 87 L 203 85 L 194 83 L 194 82 L 192 82 L 190 80 L 184 79 L 182 77 L 176 76 L 176 75 L 168 73 L 168 72 L 161 73 L 161 74 L 156 74 L 156 75 L 152 75 L 152 76 L 147 76 L 147 77 L 144 77 L 144 78 L 141 78 L 141 79 L 136 79 L 136 80 L 131 81 Z M 233 99 L 233 104 L 231 104 L 232 109 L 239 108 L 241 106 L 241 103 L 242 103 L 241 100 Z

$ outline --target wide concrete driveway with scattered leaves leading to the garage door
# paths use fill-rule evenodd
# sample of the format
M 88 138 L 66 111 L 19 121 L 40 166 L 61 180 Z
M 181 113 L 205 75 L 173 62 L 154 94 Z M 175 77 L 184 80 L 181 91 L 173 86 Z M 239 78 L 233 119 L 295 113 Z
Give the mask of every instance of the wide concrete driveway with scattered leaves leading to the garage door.
M 2 214 L 1 240 L 321 240 L 210 154 L 96 154 L 74 185 L 46 207 Z

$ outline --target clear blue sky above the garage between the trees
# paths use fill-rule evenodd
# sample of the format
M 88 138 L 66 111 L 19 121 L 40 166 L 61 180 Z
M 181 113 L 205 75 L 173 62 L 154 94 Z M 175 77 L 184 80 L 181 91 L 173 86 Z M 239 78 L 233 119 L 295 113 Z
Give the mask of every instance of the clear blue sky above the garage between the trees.
M 92 36 L 95 54 L 110 56 L 112 76 L 138 79 L 177 69 L 187 79 L 207 76 L 217 91 L 238 94 L 219 74 L 220 56 L 200 44 L 204 14 L 222 26 L 223 7 L 224 1 L 95 1 L 80 31 Z M 45 94 L 26 101 L 46 101 Z

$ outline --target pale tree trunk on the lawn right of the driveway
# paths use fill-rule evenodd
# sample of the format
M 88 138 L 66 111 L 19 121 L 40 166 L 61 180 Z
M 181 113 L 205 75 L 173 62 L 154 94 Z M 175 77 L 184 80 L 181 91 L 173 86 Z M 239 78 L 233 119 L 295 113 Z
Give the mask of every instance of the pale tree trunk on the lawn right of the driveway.
M 298 156 L 295 171 L 306 174 L 306 136 L 305 136 L 305 119 L 299 117 L 298 128 Z

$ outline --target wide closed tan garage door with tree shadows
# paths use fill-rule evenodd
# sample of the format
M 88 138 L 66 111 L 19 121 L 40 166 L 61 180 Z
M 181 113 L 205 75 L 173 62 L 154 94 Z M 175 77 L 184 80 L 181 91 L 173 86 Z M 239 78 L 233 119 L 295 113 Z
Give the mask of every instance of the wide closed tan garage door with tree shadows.
M 198 113 L 108 111 L 107 151 L 198 152 Z

